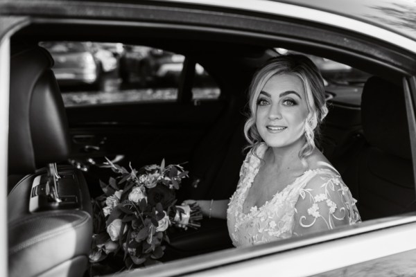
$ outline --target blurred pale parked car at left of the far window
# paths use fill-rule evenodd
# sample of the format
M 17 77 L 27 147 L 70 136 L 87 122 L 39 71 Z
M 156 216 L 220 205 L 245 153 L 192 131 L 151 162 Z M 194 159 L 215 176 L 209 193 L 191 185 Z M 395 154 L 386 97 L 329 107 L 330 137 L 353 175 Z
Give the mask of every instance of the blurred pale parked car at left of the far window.
M 53 71 L 62 85 L 96 84 L 103 70 L 111 71 L 116 67 L 116 60 L 109 51 L 94 51 L 90 42 L 48 42 L 44 47 L 55 61 Z M 101 59 L 108 62 L 103 64 Z

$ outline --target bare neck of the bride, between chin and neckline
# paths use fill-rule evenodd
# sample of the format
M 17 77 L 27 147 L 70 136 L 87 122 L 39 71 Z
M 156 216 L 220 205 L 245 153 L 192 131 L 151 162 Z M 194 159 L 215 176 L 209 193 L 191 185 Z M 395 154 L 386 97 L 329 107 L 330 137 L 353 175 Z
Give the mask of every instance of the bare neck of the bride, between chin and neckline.
M 279 148 L 270 148 L 266 162 L 277 170 L 305 170 L 299 157 L 299 152 L 304 145 L 304 138 L 295 141 L 291 145 Z

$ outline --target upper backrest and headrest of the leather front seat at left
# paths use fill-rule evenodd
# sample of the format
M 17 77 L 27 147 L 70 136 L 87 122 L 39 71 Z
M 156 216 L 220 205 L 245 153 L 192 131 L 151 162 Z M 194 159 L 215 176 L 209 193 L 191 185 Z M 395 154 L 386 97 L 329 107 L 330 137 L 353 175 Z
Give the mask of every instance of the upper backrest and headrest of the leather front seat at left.
M 68 157 L 67 115 L 51 66 L 51 55 L 39 46 L 10 58 L 9 175 Z

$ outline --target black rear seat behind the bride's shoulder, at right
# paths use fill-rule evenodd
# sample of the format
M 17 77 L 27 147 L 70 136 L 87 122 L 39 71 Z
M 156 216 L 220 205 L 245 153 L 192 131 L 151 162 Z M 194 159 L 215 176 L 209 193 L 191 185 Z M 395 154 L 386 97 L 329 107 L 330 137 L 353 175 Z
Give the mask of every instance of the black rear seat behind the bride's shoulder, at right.
M 361 218 L 411 211 L 415 182 L 403 88 L 369 78 L 363 88 L 361 117 L 362 141 L 350 151 L 354 162 L 341 172 L 358 200 Z

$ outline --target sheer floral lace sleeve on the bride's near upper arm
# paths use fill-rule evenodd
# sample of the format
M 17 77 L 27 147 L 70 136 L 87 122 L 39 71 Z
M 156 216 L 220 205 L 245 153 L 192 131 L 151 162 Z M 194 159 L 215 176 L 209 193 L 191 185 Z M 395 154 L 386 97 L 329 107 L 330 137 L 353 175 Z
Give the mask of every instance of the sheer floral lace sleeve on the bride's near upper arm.
M 361 221 L 356 199 L 339 176 L 315 175 L 300 190 L 293 234 L 304 235 Z

